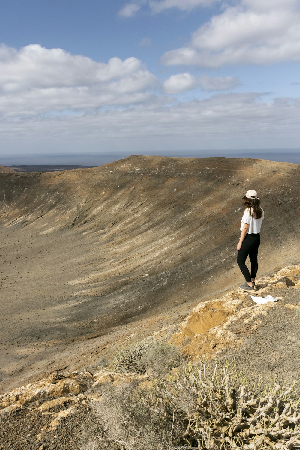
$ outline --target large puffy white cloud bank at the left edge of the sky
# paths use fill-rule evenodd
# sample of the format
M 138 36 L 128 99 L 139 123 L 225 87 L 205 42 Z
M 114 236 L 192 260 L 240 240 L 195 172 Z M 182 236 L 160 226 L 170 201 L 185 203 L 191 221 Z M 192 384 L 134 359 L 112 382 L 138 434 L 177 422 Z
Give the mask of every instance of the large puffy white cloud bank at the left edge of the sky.
M 0 47 L 0 114 L 18 117 L 146 102 L 156 77 L 137 58 L 98 63 L 38 44 Z

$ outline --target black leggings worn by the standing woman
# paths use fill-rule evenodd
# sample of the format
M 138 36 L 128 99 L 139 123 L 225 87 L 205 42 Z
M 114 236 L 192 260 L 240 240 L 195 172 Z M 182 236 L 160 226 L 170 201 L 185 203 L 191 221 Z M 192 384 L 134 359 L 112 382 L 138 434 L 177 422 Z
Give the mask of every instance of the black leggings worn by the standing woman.
M 255 279 L 258 270 L 257 254 L 260 246 L 260 234 L 246 234 L 243 240 L 241 250 L 237 252 L 237 264 L 244 275 L 246 282 L 251 283 L 251 278 Z M 251 275 L 245 264 L 247 256 L 249 255 L 251 261 Z

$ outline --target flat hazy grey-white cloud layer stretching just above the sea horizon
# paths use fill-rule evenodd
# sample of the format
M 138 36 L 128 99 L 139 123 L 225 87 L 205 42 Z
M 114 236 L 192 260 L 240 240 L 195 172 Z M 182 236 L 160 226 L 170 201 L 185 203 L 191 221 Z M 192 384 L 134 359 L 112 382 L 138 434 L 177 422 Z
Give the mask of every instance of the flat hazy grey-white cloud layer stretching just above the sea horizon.
M 218 94 L 208 99 L 160 106 L 139 104 L 78 116 L 31 117 L 0 121 L 3 143 L 41 140 L 48 149 L 116 148 L 139 153 L 142 147 L 249 148 L 297 146 L 300 98 L 265 102 L 260 94 Z M 94 144 L 93 144 L 94 143 Z M 99 147 L 101 145 L 101 147 Z

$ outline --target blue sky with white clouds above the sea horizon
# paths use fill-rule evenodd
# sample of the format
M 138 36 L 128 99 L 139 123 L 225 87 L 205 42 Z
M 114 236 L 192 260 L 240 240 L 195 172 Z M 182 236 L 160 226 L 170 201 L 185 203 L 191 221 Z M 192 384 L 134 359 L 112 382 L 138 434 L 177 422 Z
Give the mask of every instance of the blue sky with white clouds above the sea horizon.
M 0 156 L 299 149 L 299 23 L 300 0 L 1 0 Z

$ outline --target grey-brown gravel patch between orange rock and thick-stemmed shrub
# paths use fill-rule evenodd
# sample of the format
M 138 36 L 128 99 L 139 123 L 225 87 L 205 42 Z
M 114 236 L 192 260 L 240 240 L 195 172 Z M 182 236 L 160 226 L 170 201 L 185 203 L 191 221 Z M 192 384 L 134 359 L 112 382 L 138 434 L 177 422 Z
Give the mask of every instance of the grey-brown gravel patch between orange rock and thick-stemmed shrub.
M 277 375 L 278 382 L 299 382 L 300 309 L 288 309 L 285 305 L 299 305 L 300 308 L 300 290 L 275 290 L 270 287 L 269 292 L 264 292 L 265 295 L 283 297 L 284 300 L 275 303 L 267 315 L 257 317 L 262 322 L 257 330 L 237 322 L 233 332 L 237 333 L 237 339 L 242 338 L 243 344 L 239 348 L 224 351 L 220 360 L 233 360 L 251 381 Z

